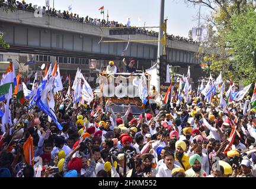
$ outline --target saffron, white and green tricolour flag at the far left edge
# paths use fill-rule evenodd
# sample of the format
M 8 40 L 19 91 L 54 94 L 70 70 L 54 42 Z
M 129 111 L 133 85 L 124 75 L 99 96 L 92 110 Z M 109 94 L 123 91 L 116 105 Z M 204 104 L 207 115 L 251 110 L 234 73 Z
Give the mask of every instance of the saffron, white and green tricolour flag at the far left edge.
M 14 87 L 17 86 L 17 80 L 15 76 L 15 67 L 12 62 L 9 63 L 7 70 L 2 77 L 0 84 L 0 95 L 7 94 L 9 92 L 9 86 L 12 85 L 12 92 Z

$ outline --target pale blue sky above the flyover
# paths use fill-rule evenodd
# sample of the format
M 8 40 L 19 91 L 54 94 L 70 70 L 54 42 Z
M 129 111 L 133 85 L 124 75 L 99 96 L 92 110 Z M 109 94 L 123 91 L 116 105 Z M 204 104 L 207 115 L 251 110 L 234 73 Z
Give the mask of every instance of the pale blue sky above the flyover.
M 45 6 L 45 0 L 27 0 L 27 3 L 33 5 Z M 107 19 L 107 10 L 109 20 L 114 20 L 126 24 L 128 18 L 132 26 L 158 26 L 160 17 L 161 0 L 55 0 L 55 9 L 57 11 L 68 10 L 72 5 L 73 14 L 79 14 L 79 17 L 103 19 L 98 9 L 104 6 L 105 19 Z M 50 0 L 50 7 L 53 7 L 53 0 Z M 201 6 L 201 17 L 209 14 L 209 9 Z M 193 6 L 185 4 L 184 0 L 165 0 L 165 16 L 167 18 L 168 34 L 188 37 L 188 31 L 199 24 L 199 5 Z M 201 22 L 203 22 L 201 20 Z M 151 30 L 151 28 L 148 28 Z M 158 31 L 158 29 L 153 29 Z

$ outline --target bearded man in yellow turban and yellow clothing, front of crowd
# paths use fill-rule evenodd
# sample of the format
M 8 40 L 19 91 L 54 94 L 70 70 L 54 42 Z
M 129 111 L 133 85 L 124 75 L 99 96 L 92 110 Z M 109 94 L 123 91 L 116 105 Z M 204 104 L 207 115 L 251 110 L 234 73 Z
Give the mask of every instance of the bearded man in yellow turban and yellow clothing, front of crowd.
M 184 154 L 187 145 L 184 141 L 177 141 L 175 143 L 175 160 L 178 161 L 181 167 L 187 171 L 190 168 L 190 164 L 188 163 L 188 155 Z

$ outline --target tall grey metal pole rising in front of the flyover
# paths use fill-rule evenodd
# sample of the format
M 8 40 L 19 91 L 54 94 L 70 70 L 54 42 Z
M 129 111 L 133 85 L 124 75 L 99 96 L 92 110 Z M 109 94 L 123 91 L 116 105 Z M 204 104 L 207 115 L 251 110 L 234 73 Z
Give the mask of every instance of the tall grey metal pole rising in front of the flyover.
M 160 19 L 159 19 L 159 34 L 158 34 L 158 61 L 157 63 L 160 63 L 160 56 L 163 54 L 163 45 L 161 44 L 160 40 L 163 37 L 163 30 L 161 28 L 161 25 L 164 23 L 164 0 L 161 0 L 161 5 L 160 5 Z M 158 76 L 158 82 L 156 84 L 156 90 L 160 93 L 160 78 Z

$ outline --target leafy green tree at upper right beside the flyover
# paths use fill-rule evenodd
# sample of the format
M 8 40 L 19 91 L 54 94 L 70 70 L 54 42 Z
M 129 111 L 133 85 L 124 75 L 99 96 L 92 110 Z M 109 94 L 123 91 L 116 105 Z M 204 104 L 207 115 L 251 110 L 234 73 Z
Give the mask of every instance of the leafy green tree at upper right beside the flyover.
M 255 21 L 252 21 L 252 18 L 248 19 L 249 15 L 247 17 L 245 15 L 254 12 L 255 1 L 187 0 L 185 2 L 194 5 L 201 3 L 211 10 L 205 18 L 209 29 L 209 41 L 200 44 L 198 55 L 209 64 L 213 77 L 217 77 L 222 71 L 224 79 L 232 79 L 243 84 L 253 82 L 256 66 L 254 61 L 256 57 L 252 54 L 254 52 L 256 56 L 253 25 Z M 245 19 L 248 19 L 248 22 Z M 243 27 L 239 27 L 240 25 Z M 254 32 L 247 35 L 248 31 Z

